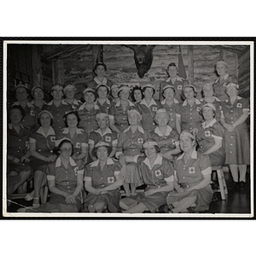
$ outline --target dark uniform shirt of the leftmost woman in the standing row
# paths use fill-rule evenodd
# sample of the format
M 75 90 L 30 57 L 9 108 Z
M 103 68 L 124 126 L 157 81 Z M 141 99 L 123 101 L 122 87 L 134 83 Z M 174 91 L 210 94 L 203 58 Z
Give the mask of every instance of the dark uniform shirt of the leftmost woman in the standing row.
M 20 106 L 20 103 L 15 102 L 12 106 Z M 21 124 L 27 128 L 32 128 L 32 130 L 36 129 L 39 126 L 38 113 L 41 112 L 41 109 L 32 105 L 30 102 L 27 102 L 26 107 L 23 109 L 25 111 L 25 117 L 21 120 Z

